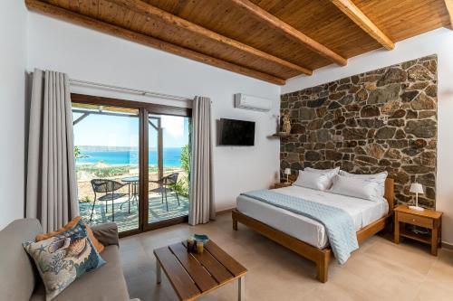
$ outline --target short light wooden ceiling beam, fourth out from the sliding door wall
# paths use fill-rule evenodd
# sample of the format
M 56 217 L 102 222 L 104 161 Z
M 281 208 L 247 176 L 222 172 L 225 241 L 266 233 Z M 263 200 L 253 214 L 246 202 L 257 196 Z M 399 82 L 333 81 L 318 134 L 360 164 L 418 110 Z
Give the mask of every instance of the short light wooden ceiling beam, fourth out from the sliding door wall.
M 381 30 L 371 20 L 361 12 L 360 8 L 352 3 L 351 0 L 331 0 L 333 5 L 338 7 L 343 14 L 346 14 L 353 23 L 357 24 L 361 29 L 368 33 L 371 38 L 379 42 L 387 50 L 395 48 L 395 43 L 390 38 L 382 33 Z M 447 0 L 448 1 L 448 0 Z

